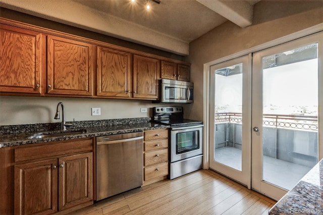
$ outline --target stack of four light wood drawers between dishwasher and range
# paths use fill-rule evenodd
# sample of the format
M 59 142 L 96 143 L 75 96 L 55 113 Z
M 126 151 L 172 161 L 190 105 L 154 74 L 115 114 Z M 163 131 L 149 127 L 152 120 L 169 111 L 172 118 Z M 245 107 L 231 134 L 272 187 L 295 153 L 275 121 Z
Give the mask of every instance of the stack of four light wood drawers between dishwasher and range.
M 167 178 L 168 129 L 144 131 L 144 183 L 148 185 Z

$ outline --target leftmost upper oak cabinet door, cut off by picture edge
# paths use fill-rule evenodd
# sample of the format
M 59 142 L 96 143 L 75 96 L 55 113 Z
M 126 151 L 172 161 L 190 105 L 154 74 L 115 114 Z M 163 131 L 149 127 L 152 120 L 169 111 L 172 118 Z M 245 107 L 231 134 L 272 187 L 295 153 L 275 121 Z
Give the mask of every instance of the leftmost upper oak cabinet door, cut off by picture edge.
M 46 36 L 5 24 L 0 29 L 0 91 L 41 94 Z

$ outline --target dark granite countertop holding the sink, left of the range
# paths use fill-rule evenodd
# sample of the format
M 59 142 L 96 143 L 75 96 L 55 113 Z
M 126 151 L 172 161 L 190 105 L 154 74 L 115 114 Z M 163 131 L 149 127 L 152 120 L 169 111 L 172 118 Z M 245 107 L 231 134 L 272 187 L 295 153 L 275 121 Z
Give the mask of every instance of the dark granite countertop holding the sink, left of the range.
M 115 122 L 116 120 L 114 120 Z M 122 120 L 119 120 L 119 122 Z M 109 121 L 110 122 L 110 121 Z M 127 123 L 130 122 L 130 123 Z M 77 123 L 75 123 L 77 124 Z M 100 126 L 92 126 L 91 125 L 100 125 Z M 81 127 L 81 126 L 84 127 Z M 25 125 L 21 126 L 21 130 L 25 132 L 16 132 L 16 133 L 3 133 L 0 134 L 0 148 L 2 147 L 10 147 L 10 146 L 18 146 L 18 145 L 26 145 L 26 144 L 33 144 L 33 143 L 43 143 L 43 142 L 51 142 L 51 141 L 61 141 L 61 140 L 71 140 L 77 138 L 87 138 L 87 137 L 96 137 L 96 136 L 105 136 L 105 135 L 112 135 L 112 134 L 122 134 L 122 133 L 129 133 L 129 132 L 138 132 L 144 130 L 152 130 L 152 129 L 161 129 L 161 128 L 169 128 L 170 126 L 161 125 L 157 123 L 152 123 L 144 120 L 137 120 L 137 121 L 126 121 L 124 120 L 121 124 L 113 124 L 113 123 L 102 123 L 102 122 L 91 122 L 83 123 L 79 125 L 77 128 L 68 129 L 66 132 L 74 132 L 74 131 L 83 131 L 84 133 L 80 134 L 64 134 L 65 132 L 61 132 L 59 129 L 57 130 L 46 130 L 46 129 L 39 129 L 39 127 L 43 127 L 43 125 L 37 125 L 38 130 L 36 129 L 26 129 Z M 10 126 L 7 126 L 10 127 Z M 14 127 L 16 128 L 16 127 Z M 7 130 L 14 130 L 11 127 L 6 128 Z M 4 130 L 4 129 L 3 129 Z M 16 129 L 18 130 L 18 129 Z M 55 137 L 46 137 L 46 138 L 39 138 L 39 139 L 31 139 L 31 137 L 41 134 L 56 134 L 61 133 L 62 135 L 58 135 Z

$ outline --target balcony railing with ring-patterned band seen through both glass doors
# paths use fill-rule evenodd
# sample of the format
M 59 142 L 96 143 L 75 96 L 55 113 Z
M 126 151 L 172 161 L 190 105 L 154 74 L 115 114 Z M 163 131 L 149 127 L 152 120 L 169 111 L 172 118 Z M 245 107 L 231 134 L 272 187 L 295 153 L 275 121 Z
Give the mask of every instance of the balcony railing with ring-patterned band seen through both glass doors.
M 217 113 L 215 123 L 242 123 L 241 113 Z M 317 116 L 304 115 L 263 115 L 263 126 L 317 131 Z

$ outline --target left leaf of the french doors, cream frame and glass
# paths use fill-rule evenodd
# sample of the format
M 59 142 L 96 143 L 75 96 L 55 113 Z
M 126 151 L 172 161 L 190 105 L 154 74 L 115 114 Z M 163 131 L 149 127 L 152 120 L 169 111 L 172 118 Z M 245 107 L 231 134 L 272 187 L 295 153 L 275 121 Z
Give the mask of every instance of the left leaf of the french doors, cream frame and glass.
M 251 55 L 210 68 L 209 167 L 250 188 Z

